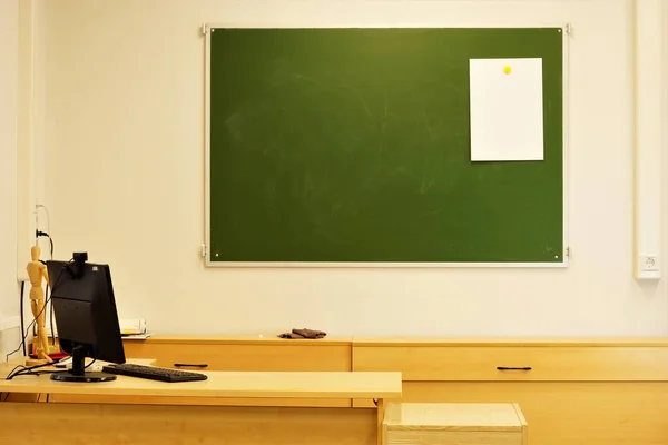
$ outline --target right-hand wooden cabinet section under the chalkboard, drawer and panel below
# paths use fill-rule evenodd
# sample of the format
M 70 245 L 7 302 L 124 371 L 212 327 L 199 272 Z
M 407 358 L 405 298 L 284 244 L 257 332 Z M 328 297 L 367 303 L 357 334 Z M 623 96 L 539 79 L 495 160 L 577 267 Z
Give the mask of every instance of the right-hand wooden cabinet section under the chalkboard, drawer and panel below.
M 353 369 L 401 372 L 397 402 L 517 403 L 531 445 L 668 443 L 666 337 L 354 338 Z

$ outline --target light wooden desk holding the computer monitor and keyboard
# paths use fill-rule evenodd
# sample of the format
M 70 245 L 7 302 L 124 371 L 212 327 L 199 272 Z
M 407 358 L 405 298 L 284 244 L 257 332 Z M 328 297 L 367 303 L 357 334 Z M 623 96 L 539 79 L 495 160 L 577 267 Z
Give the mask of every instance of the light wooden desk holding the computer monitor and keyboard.
M 4 370 L 13 366 L 3 365 Z M 9 367 L 9 369 L 8 369 Z M 0 369 L 0 375 L 2 369 Z M 6 374 L 6 373 L 4 373 Z M 114 382 L 55 382 L 49 375 L 0 380 L 0 393 L 130 396 L 139 403 L 1 403 L 0 443 L 372 445 L 380 441 L 385 398 L 401 396 L 395 372 L 206 372 L 205 382 L 167 384 L 118 376 Z M 195 400 L 141 404 L 141 398 Z M 204 406 L 210 397 L 375 398 L 377 408 Z

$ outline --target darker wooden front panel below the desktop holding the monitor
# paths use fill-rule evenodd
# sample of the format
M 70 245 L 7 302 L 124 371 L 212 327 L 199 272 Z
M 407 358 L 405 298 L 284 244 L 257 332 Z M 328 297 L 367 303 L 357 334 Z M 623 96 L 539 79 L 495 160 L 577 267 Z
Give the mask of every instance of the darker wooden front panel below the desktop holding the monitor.
M 0 444 L 375 445 L 375 411 L 0 404 Z

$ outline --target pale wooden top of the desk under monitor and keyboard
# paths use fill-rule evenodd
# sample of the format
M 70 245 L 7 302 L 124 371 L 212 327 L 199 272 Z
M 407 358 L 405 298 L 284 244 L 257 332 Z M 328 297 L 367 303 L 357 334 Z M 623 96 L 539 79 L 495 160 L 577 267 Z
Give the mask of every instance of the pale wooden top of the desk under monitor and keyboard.
M 16 366 L 16 365 L 14 365 Z M 7 375 L 13 366 L 0 366 Z M 395 398 L 402 377 L 396 372 L 200 372 L 207 380 L 164 383 L 118 376 L 114 382 L 65 383 L 48 374 L 0 380 L 0 393 L 86 394 L 174 397 Z

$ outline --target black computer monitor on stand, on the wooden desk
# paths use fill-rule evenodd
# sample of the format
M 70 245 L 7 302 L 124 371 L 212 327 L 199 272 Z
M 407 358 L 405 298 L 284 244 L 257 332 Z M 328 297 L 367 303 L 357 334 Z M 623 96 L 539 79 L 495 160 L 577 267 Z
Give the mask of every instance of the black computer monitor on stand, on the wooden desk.
M 75 254 L 73 258 L 47 261 L 60 348 L 72 358 L 70 369 L 53 373 L 51 378 L 114 380 L 116 375 L 90 372 L 85 365 L 86 357 L 126 362 L 109 266 L 87 263 L 87 254 Z

